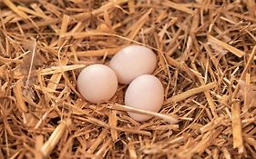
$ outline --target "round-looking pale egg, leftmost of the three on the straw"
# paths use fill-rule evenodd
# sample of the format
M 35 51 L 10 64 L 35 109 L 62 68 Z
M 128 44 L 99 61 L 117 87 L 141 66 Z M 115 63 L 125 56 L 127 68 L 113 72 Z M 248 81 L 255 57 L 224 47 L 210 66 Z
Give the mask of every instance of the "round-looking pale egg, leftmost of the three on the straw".
M 116 94 L 118 78 L 107 65 L 88 65 L 77 77 L 77 88 L 87 101 L 97 104 Z

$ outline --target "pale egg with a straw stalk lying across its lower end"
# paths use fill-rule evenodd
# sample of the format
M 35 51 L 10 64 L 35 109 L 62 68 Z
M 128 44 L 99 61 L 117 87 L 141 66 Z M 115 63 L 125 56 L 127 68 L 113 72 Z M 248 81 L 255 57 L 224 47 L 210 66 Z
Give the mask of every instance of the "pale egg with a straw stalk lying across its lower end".
M 164 88 L 161 82 L 154 75 L 140 75 L 129 85 L 125 94 L 125 104 L 151 112 L 159 112 L 164 100 Z M 137 114 L 128 112 L 128 115 L 144 122 L 152 116 L 148 114 Z

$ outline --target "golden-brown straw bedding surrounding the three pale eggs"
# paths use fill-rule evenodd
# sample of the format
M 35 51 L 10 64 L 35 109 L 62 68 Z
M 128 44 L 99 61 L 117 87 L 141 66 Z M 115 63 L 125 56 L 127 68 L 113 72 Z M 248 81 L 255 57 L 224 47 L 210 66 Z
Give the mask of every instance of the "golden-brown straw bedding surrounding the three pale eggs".
M 0 0 L 0 158 L 256 158 L 254 0 Z M 165 102 L 148 122 L 126 85 L 77 92 L 126 45 L 158 55 Z

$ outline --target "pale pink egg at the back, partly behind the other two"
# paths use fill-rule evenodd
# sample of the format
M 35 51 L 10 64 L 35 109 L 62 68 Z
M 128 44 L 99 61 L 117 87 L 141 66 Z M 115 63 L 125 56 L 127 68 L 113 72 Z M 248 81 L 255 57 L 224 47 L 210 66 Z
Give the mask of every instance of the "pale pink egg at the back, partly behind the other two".
M 130 84 L 139 75 L 152 74 L 157 66 L 157 56 L 148 47 L 128 45 L 118 51 L 109 62 L 120 84 Z

